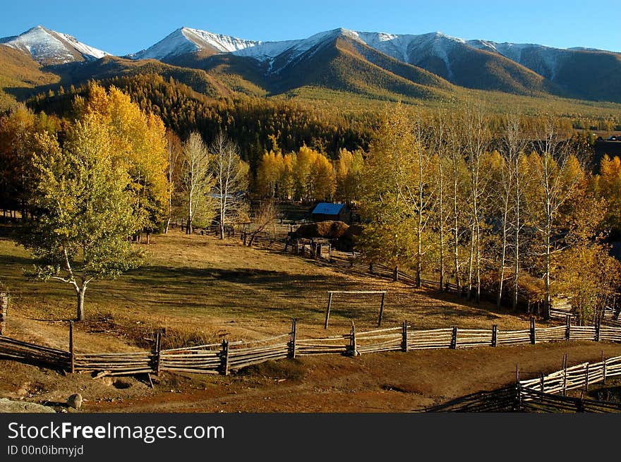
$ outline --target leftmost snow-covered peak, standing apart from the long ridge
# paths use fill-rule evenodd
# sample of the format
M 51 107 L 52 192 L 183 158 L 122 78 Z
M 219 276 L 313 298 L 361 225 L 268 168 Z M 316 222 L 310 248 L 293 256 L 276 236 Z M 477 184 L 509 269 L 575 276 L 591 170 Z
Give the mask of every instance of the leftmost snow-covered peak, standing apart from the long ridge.
M 78 42 L 71 35 L 46 29 L 42 25 L 37 25 L 16 37 L 0 39 L 0 44 L 27 51 L 32 59 L 42 64 L 92 61 L 108 55 L 105 51 Z

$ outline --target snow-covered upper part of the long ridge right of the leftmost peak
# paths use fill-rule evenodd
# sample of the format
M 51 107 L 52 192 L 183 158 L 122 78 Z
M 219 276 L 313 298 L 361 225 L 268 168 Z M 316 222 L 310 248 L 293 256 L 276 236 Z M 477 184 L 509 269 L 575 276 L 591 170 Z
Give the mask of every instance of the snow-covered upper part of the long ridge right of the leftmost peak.
M 166 60 L 194 51 L 207 50 L 213 54 L 231 53 L 261 62 L 267 61 L 268 71 L 278 72 L 309 49 L 330 42 L 339 36 L 366 44 L 397 61 L 439 73 L 448 80 L 456 78 L 453 70 L 454 63 L 460 59 L 460 56 L 456 55 L 464 54 L 464 52 L 488 51 L 529 68 L 544 78 L 554 80 L 561 61 L 566 60 L 572 54 L 581 51 L 601 51 L 577 48 L 556 49 L 538 44 L 498 43 L 481 39 L 466 40 L 451 37 L 442 32 L 394 35 L 386 32 L 358 32 L 340 28 L 319 32 L 306 39 L 260 42 L 213 34 L 204 30 L 180 28 L 152 47 L 130 56 L 132 59 Z M 287 56 L 287 58 L 277 60 L 279 56 Z M 275 61 L 279 61 L 279 66 L 274 66 Z M 443 69 L 439 71 L 438 66 Z

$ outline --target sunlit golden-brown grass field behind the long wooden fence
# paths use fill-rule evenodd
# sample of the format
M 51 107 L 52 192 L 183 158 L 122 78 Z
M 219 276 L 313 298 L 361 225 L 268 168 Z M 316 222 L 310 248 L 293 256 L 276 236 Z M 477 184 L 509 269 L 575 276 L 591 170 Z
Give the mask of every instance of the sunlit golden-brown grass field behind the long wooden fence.
M 28 253 L 0 238 L 0 280 L 11 293 L 11 313 L 30 320 L 58 322 L 75 316 L 75 295 L 57 281 L 28 281 Z M 167 328 L 169 344 L 207 343 L 224 336 L 260 339 L 289 331 L 292 317 L 299 335 L 325 336 L 377 324 L 379 296 L 335 296 L 330 328 L 323 329 L 327 291 L 386 290 L 382 326 L 408 320 L 420 329 L 491 327 L 522 329 L 524 315 L 497 312 L 491 305 L 466 305 L 449 294 L 418 291 L 404 284 L 344 274 L 327 262 L 314 262 L 274 250 L 246 248 L 235 238 L 186 236 L 178 229 L 155 236 L 145 265 L 115 281 L 89 286 L 86 321 L 78 329 L 122 334 L 140 344 L 153 329 Z

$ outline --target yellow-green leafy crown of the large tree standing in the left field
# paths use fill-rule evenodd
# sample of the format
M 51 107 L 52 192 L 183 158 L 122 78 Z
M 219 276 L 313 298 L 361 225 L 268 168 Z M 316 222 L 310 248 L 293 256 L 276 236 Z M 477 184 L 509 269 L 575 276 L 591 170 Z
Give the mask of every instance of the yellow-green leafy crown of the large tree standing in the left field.
M 114 278 L 140 256 L 128 241 L 139 226 L 129 177 L 113 162 L 107 130 L 94 117 L 77 121 L 66 136 L 63 148 L 49 133 L 35 136 L 31 217 L 20 243 L 39 260 L 38 277 Z

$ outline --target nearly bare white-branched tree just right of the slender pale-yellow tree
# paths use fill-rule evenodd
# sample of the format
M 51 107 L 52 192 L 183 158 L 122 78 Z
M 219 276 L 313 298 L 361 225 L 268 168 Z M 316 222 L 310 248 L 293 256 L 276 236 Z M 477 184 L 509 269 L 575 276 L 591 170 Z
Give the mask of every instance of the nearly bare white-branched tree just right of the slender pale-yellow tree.
M 217 202 L 220 239 L 224 226 L 237 216 L 248 188 L 248 165 L 239 158 L 239 148 L 220 132 L 210 148 L 213 156 L 213 191 Z

